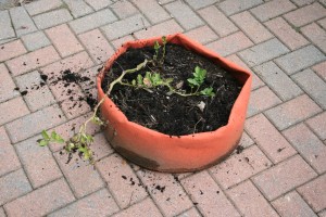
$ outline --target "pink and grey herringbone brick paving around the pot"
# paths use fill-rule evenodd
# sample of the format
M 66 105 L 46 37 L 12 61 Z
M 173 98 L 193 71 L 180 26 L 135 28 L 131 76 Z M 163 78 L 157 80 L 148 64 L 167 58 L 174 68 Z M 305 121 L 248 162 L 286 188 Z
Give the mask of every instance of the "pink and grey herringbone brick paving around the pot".
M 95 169 L 37 145 L 42 129 L 68 136 L 90 113 L 68 111 L 62 84 L 33 89 L 40 74 L 93 79 L 123 41 L 177 31 L 254 75 L 241 153 L 171 175 L 126 162 L 98 128 Z M 325 217 L 325 0 L 38 0 L 0 11 L 0 217 Z

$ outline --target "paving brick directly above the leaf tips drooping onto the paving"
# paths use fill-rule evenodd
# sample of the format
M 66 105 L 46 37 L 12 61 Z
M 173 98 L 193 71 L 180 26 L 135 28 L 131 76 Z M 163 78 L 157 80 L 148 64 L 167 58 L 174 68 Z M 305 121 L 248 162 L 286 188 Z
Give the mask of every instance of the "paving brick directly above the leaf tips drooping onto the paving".
M 11 141 L 16 143 L 64 120 L 61 110 L 54 104 L 7 124 L 7 129 Z

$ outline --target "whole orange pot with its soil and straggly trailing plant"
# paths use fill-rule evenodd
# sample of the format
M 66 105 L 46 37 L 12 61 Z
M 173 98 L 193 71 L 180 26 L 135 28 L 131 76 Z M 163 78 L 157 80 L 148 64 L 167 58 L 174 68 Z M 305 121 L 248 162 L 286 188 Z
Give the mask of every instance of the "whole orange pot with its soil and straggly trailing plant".
M 209 167 L 236 149 L 250 86 L 250 73 L 183 34 L 126 42 L 99 73 L 93 116 L 65 150 L 91 159 L 86 127 L 108 123 L 111 145 L 142 167 L 170 173 Z M 64 142 L 55 132 L 42 133 L 42 145 Z

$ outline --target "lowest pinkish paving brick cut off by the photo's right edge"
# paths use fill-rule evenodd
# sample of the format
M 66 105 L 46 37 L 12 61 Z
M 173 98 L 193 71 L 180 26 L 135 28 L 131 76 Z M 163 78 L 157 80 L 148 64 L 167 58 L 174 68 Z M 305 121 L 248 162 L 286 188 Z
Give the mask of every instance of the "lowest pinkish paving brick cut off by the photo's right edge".
M 315 212 L 326 208 L 326 175 L 319 176 L 315 180 L 298 188 L 298 192 L 303 196 Z

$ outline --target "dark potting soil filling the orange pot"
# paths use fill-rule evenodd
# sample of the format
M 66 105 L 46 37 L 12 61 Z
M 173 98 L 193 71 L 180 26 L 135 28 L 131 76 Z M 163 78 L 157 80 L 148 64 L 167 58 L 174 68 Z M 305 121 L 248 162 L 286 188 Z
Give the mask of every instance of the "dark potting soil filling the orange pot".
M 135 68 L 145 59 L 151 60 L 153 48 L 128 49 L 113 64 L 102 81 L 102 89 L 108 91 L 109 84 L 117 78 L 123 69 Z M 206 69 L 206 78 L 201 90 L 213 87 L 215 97 L 178 94 L 167 95 L 166 87 L 151 89 L 115 85 L 110 98 L 134 123 L 153 130 L 170 135 L 185 136 L 195 132 L 213 131 L 225 126 L 230 110 L 241 90 L 241 85 L 225 69 L 197 53 L 176 44 L 166 44 L 166 54 L 162 67 L 150 65 L 140 72 L 125 76 L 125 82 L 131 82 L 137 74 L 145 76 L 146 72 L 159 72 L 163 78 L 173 78 L 173 87 L 191 91 L 187 79 L 192 77 L 195 67 Z M 204 104 L 201 111 L 199 104 Z

